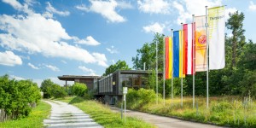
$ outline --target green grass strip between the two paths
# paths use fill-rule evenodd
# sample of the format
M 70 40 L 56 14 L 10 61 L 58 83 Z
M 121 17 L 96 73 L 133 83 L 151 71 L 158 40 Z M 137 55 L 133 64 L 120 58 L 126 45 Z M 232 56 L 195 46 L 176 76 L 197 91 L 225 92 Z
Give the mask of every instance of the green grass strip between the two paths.
M 87 101 L 81 97 L 66 97 L 65 99 L 58 99 L 61 102 L 68 102 L 73 104 L 77 108 L 80 108 L 84 113 L 90 114 L 90 118 L 94 119 L 100 125 L 103 125 L 106 128 L 113 127 L 127 127 L 127 128 L 150 128 L 155 127 L 145 123 L 141 119 L 126 117 L 124 122 L 120 118 L 120 113 L 113 113 L 110 108 L 102 105 L 100 102 L 96 101 Z

